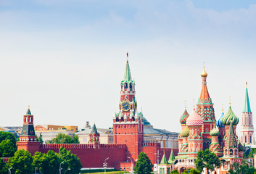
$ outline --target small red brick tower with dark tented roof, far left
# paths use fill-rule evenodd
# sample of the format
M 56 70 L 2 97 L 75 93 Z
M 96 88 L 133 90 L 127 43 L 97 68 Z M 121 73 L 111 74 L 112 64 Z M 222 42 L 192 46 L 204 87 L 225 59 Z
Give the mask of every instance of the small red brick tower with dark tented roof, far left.
M 17 142 L 17 149 L 25 149 L 32 155 L 40 149 L 40 143 L 36 141 L 33 115 L 31 115 L 29 107 L 26 115 L 23 117 L 23 128 L 20 134 L 20 141 Z

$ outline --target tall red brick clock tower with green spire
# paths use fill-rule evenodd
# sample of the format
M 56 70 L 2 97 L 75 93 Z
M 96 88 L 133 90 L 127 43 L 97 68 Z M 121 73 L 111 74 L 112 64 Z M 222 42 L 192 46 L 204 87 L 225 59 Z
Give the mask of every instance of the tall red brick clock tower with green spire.
M 113 141 L 114 144 L 126 144 L 126 157 L 131 157 L 135 161 L 139 152 L 141 152 L 141 143 L 144 140 L 144 126 L 143 115 L 137 113 L 135 83 L 131 78 L 128 53 L 125 77 L 120 86 L 120 111 L 115 113 L 113 117 Z

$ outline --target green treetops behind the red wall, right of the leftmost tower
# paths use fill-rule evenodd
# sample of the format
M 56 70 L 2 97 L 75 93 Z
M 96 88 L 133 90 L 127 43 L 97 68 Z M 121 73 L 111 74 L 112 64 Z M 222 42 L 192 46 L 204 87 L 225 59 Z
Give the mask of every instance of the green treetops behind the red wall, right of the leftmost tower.
M 56 138 L 46 141 L 46 144 L 79 144 L 78 135 L 71 136 L 65 133 L 59 133 Z

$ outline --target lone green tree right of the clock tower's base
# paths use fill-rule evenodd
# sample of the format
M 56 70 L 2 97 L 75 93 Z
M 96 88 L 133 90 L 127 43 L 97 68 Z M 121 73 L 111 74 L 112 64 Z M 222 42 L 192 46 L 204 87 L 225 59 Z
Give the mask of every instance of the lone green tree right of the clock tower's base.
M 149 157 L 144 152 L 141 152 L 133 170 L 134 173 L 138 174 L 151 173 L 153 171 L 152 167 Z

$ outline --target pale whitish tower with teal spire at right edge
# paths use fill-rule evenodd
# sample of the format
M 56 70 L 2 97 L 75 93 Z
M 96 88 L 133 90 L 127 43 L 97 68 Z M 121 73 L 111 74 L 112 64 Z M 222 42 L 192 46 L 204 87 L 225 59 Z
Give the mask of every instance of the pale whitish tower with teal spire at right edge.
M 252 111 L 249 105 L 249 96 L 246 83 L 244 110 L 241 119 L 241 144 L 255 144 L 254 127 L 252 124 Z

